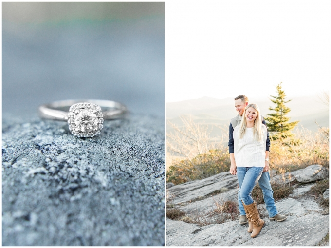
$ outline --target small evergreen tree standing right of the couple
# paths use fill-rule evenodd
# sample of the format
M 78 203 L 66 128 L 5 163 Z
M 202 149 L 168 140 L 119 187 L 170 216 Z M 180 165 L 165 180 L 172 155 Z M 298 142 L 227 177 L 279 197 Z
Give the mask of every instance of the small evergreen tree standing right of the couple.
M 276 104 L 275 108 L 269 107 L 269 110 L 274 111 L 274 113 L 267 114 L 268 117 L 265 118 L 269 131 L 273 134 L 273 139 L 278 139 L 280 137 L 292 136 L 291 130 L 297 125 L 299 121 L 289 122 L 290 117 L 286 115 L 291 111 L 290 108 L 285 106 L 291 100 L 285 101 L 285 92 L 281 89 L 280 82 L 276 86 L 277 96 L 272 96 L 271 101 Z

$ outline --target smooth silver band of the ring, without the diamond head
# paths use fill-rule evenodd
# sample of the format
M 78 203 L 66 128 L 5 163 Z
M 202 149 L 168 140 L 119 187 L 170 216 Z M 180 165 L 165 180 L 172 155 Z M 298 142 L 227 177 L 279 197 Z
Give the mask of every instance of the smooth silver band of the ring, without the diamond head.
M 67 121 L 69 108 L 75 103 L 84 102 L 94 103 L 101 108 L 105 108 L 105 110 L 102 111 L 105 120 L 116 119 L 127 112 L 127 108 L 124 105 L 115 101 L 83 99 L 55 101 L 49 104 L 40 105 L 38 108 L 39 114 L 40 117 L 45 119 Z M 68 111 L 61 110 L 64 108 L 68 108 Z

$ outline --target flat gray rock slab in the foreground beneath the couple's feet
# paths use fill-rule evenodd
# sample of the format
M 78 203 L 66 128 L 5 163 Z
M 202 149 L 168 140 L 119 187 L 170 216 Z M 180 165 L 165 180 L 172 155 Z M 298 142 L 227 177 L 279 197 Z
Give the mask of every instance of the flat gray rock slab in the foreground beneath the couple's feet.
M 167 246 L 314 246 L 328 233 L 329 215 L 289 216 L 284 222 L 266 220 L 254 239 L 238 221 L 203 226 L 166 219 Z

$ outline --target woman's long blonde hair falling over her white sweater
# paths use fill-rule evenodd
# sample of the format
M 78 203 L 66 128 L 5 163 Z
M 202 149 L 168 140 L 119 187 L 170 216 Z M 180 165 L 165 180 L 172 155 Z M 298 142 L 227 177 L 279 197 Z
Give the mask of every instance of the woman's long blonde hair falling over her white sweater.
M 262 119 L 260 114 L 260 109 L 255 103 L 250 103 L 247 105 L 247 107 L 244 110 L 244 113 L 242 114 L 242 119 L 239 127 L 239 138 L 241 139 L 244 134 L 246 133 L 247 123 L 246 123 L 246 110 L 252 107 L 257 111 L 257 117 L 254 120 L 254 126 L 253 126 L 253 138 L 256 141 L 261 141 L 263 139 L 263 132 L 262 132 Z

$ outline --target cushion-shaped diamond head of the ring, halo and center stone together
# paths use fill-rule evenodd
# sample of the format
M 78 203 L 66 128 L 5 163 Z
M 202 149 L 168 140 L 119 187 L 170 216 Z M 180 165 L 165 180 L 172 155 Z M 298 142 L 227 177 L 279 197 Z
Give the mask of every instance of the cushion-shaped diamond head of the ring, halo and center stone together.
M 69 109 L 69 130 L 79 138 L 100 134 L 103 120 L 100 106 L 94 103 L 79 102 Z

